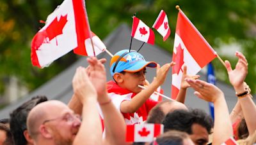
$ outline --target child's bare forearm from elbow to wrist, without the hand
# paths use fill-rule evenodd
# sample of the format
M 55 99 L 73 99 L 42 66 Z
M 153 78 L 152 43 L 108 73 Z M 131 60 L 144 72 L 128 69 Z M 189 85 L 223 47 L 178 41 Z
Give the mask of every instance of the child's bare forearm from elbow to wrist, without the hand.
M 145 88 L 145 90 L 142 90 L 140 93 L 132 97 L 131 101 L 122 102 L 120 110 L 122 113 L 136 112 L 158 87 L 159 84 L 156 81 L 153 81 L 147 88 Z

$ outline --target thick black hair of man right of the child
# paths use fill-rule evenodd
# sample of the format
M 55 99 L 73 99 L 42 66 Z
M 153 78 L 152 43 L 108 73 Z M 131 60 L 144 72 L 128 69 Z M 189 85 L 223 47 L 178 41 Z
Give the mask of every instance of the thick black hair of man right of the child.
M 179 130 L 193 134 L 191 127 L 195 123 L 204 127 L 208 134 L 211 134 L 211 128 L 213 127 L 212 118 L 200 109 L 191 109 L 189 111 L 178 109 L 168 113 L 163 120 L 164 132 Z

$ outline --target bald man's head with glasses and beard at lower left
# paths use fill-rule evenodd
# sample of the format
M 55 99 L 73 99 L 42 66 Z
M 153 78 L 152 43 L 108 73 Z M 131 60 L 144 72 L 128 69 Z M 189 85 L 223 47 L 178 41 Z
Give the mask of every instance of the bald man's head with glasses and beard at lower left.
M 49 100 L 35 106 L 28 115 L 28 132 L 35 143 L 72 144 L 81 125 L 66 104 Z

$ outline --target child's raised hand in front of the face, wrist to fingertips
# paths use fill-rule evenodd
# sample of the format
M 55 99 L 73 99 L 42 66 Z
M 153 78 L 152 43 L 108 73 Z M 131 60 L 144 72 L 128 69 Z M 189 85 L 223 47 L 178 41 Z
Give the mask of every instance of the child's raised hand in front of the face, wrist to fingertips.
M 175 62 L 164 64 L 164 66 L 162 67 L 160 67 L 159 64 L 157 64 L 156 77 L 154 78 L 153 82 L 156 82 L 158 86 L 162 85 L 166 78 L 167 72 L 169 71 L 170 67 L 174 65 Z

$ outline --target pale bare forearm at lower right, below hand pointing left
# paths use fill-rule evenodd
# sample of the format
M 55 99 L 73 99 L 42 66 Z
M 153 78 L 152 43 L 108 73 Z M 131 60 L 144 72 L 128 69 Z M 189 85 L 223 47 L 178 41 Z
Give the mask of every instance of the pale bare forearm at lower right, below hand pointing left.
M 212 144 L 221 144 L 233 135 L 224 95 L 214 102 L 214 119 Z

